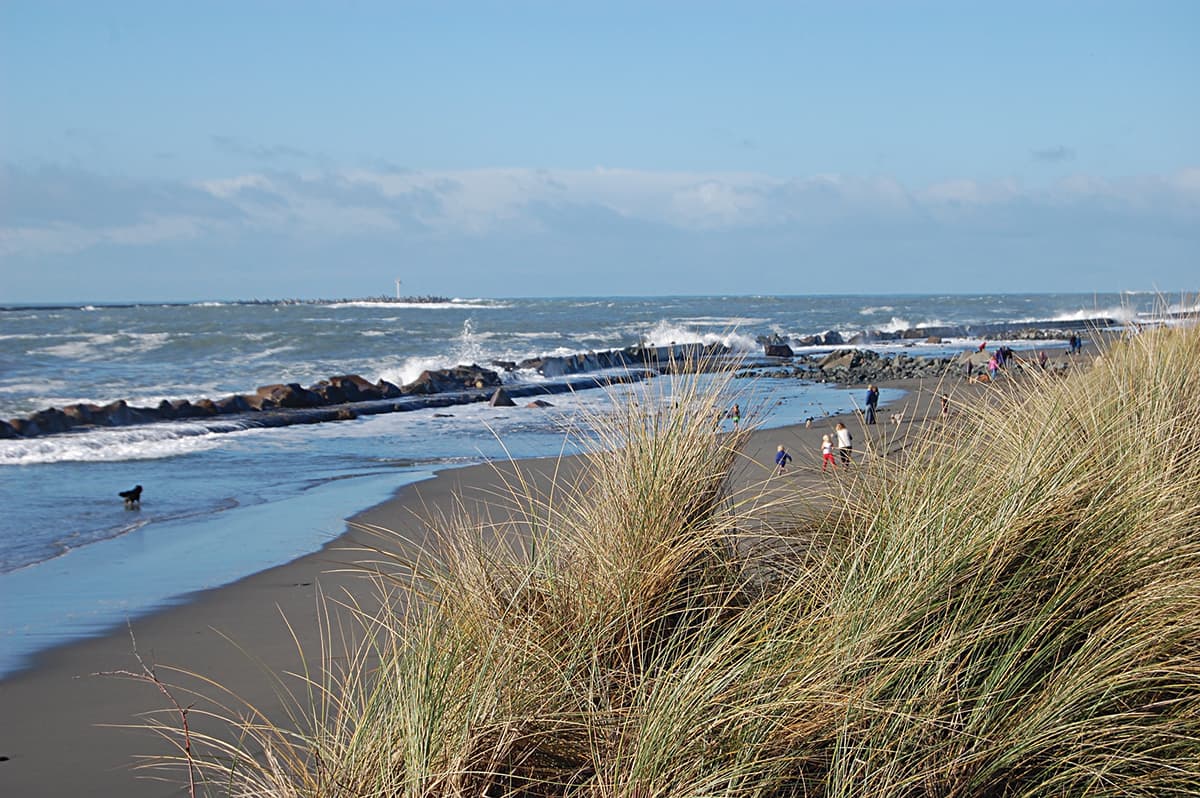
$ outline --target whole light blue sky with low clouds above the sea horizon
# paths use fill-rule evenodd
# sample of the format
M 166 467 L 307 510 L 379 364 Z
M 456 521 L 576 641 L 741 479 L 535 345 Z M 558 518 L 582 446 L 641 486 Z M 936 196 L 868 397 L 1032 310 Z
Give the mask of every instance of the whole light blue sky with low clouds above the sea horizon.
M 0 0 L 0 304 L 1200 289 L 1198 2 Z

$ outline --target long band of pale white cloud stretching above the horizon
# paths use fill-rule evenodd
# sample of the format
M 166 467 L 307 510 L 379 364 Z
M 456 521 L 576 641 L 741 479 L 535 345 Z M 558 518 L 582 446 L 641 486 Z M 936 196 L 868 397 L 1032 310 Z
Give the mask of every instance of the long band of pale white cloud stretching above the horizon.
M 929 221 L 950 232 L 1044 228 L 1056 220 L 1073 227 L 1087 218 L 1105 224 L 1114 218 L 1200 221 L 1200 168 L 1120 180 L 1074 175 L 1042 190 L 1012 180 L 960 179 L 912 188 L 888 176 L 780 179 L 599 167 L 262 172 L 192 184 L 137 184 L 55 169 L 53 193 L 36 176 L 13 168 L 0 172 L 5 257 L 82 252 L 100 245 L 220 242 L 258 234 L 311 241 L 535 238 L 586 232 L 589 221 L 610 229 L 613 220 L 678 235 L 863 233 L 916 228 Z M 55 196 L 72 199 L 58 205 Z M 102 214 L 88 210 L 98 205 Z

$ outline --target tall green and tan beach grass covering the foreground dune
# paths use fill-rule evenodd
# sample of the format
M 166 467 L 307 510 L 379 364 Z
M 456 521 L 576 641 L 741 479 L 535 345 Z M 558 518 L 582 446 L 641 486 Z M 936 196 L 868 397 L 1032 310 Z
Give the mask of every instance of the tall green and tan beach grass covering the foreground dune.
M 330 601 L 290 714 L 223 696 L 152 764 L 313 798 L 1198 794 L 1196 362 L 1146 331 L 769 492 L 734 484 L 728 376 L 654 380 L 569 476 L 382 541 L 384 610 Z

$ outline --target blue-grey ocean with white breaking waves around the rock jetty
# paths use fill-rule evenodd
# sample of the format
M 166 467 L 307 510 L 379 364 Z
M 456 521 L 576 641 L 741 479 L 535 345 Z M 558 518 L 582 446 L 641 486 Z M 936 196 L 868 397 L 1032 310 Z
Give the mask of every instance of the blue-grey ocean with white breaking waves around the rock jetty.
M 428 368 L 637 343 L 721 342 L 754 358 L 773 335 L 1130 323 L 1195 310 L 1180 302 L 1126 293 L 5 306 L 0 419 L 77 402 L 218 398 L 335 374 L 398 385 Z M 978 342 L 871 348 L 941 355 Z M 546 379 L 532 371 L 503 378 Z M 798 379 L 736 388 L 749 391 L 743 407 L 757 408 L 768 427 L 862 398 L 857 388 Z M 636 389 L 616 392 L 628 390 Z M 901 398 L 886 391 L 882 403 Z M 48 647 L 317 551 L 344 518 L 438 469 L 576 451 L 583 420 L 612 397 L 593 389 L 547 400 L 542 409 L 475 403 L 278 428 L 223 418 L 0 439 L 0 676 Z M 136 484 L 145 488 L 142 508 L 126 510 L 116 493 Z

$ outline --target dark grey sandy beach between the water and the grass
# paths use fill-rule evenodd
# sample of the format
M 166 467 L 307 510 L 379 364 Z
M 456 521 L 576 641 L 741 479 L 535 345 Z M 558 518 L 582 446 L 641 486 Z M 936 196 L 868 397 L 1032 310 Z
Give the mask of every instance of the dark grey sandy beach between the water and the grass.
M 880 407 L 878 425 L 863 427 L 856 418 L 829 416 L 814 421 L 811 427 L 761 430 L 746 445 L 736 480 L 752 487 L 768 480 L 824 479 L 820 472 L 821 436 L 832 432 L 838 420 L 845 420 L 854 432 L 857 456 L 866 449 L 864 434 L 872 439 L 875 451 L 894 455 L 905 434 L 936 416 L 943 390 L 953 390 L 955 401 L 971 401 L 986 390 L 958 380 L 944 386 L 931 380 L 881 386 L 907 394 L 899 402 Z M 904 413 L 899 425 L 889 418 L 896 412 Z M 794 457 L 782 476 L 774 475 L 773 463 L 780 444 Z M 542 460 L 522 461 L 515 467 L 544 485 L 554 468 L 562 472 L 564 464 Z M 488 504 L 500 487 L 500 475 L 511 468 L 482 464 L 446 470 L 434 480 L 403 487 L 389 502 L 352 521 L 420 540 L 422 518 L 450 509 L 456 497 L 468 509 L 474 503 Z M 140 672 L 133 640 L 143 660 L 158 666 L 164 682 L 197 685 L 194 677 L 172 672 L 168 666 L 184 668 L 214 679 L 268 716 L 281 718 L 283 703 L 268 670 L 299 670 L 302 664 L 298 648 L 316 660 L 323 616 L 320 594 L 352 594 L 366 604 L 374 595 L 368 581 L 347 570 L 361 557 L 352 551 L 362 542 L 361 535 L 350 528 L 317 553 L 136 619 L 131 630 L 52 649 L 40 655 L 31 668 L 0 682 L 0 794 L 187 794 L 186 785 L 150 780 L 132 769 L 138 757 L 172 752 L 170 745 L 154 732 L 127 727 L 142 722 L 139 714 L 162 712 L 164 722 L 178 725 L 178 714 L 173 716 L 174 710 L 155 684 L 110 676 Z M 98 676 L 102 673 L 109 676 Z M 203 727 L 199 714 L 204 703 L 184 689 L 173 695 L 185 707 L 197 701 L 190 718 L 193 727 Z

